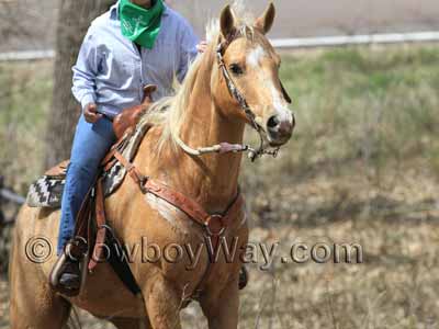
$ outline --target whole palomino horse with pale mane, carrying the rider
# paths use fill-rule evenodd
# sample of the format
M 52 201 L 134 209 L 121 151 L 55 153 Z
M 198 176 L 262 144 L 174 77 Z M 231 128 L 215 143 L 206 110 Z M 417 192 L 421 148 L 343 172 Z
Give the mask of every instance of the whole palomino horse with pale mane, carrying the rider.
M 223 141 L 239 145 L 246 124 L 250 124 L 264 136 L 266 146 L 277 148 L 290 139 L 293 131 L 294 118 L 279 80 L 280 57 L 266 38 L 273 20 L 273 4 L 251 23 L 226 7 L 219 31 L 210 37 L 209 49 L 191 66 L 177 94 L 155 104 L 146 117 L 156 124 L 139 146 L 135 167 L 192 198 L 210 214 L 223 213 L 239 193 L 241 154 L 200 156 L 202 152 L 191 147 Z M 196 300 L 209 328 L 237 328 L 241 258 L 229 261 L 221 254 L 214 271 L 203 281 L 211 263 L 207 252 L 196 252 L 198 246 L 205 242 L 203 227 L 167 202 L 140 193 L 138 188 L 126 177 L 105 201 L 109 223 L 120 239 L 133 250 L 145 240 L 161 250 L 171 243 L 192 246 L 200 256 L 196 265 L 189 266 L 189 252 L 178 262 L 170 261 L 169 257 L 178 253 L 175 248 L 168 259 L 145 262 L 136 257 L 131 262 L 142 290 L 138 296 L 128 292 L 106 263 L 87 276 L 79 296 L 55 294 L 48 275 L 56 257 L 36 264 L 25 251 L 35 237 L 45 237 L 55 246 L 59 212 L 24 206 L 11 256 L 11 328 L 61 328 L 72 305 L 109 319 L 117 328 L 181 328 L 179 311 L 200 282 L 203 284 Z M 237 250 L 244 249 L 248 239 L 245 209 L 236 212 L 224 237 L 230 245 L 238 241 Z

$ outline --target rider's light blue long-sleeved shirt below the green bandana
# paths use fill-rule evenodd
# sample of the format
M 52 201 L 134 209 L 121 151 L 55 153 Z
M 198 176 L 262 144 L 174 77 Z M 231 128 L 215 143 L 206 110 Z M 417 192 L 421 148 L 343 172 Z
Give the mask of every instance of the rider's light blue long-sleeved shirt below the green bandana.
M 116 3 L 91 23 L 72 68 L 71 91 L 82 109 L 95 103 L 109 116 L 138 105 L 146 84 L 158 86 L 156 101 L 172 93 L 176 77 L 183 80 L 198 42 L 188 21 L 166 7 L 153 49 L 142 47 L 140 54 L 122 35 Z

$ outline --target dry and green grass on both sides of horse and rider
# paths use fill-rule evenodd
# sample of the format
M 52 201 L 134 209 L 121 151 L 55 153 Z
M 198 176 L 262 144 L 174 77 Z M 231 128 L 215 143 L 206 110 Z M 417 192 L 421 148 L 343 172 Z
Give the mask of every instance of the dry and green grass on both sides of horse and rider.
M 22 194 L 43 171 L 52 77 L 0 64 L 0 174 Z M 245 161 L 251 240 L 357 242 L 364 263 L 250 266 L 240 328 L 437 328 L 439 46 L 284 54 L 282 79 L 297 128 L 278 159 Z M 184 319 L 205 327 L 195 307 Z

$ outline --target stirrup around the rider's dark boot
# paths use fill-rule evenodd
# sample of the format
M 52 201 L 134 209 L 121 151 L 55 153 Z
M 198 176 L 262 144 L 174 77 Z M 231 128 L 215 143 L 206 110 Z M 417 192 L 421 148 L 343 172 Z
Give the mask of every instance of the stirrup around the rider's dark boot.
M 68 261 L 79 263 L 79 276 L 80 287 L 79 290 L 66 288 L 59 283 L 61 275 L 65 273 Z M 88 246 L 85 239 L 75 238 L 67 242 L 63 254 L 56 261 L 49 275 L 49 286 L 57 293 L 60 293 L 67 297 L 75 297 L 82 291 L 87 275 L 87 263 L 88 263 Z

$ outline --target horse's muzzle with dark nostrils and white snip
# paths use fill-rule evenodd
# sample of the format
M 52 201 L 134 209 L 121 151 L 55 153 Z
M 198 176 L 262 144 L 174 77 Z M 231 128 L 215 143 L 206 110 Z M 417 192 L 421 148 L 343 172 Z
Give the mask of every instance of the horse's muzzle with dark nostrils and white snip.
M 274 114 L 267 121 L 267 138 L 272 147 L 286 144 L 293 135 L 295 126 L 294 114 L 291 111 Z

